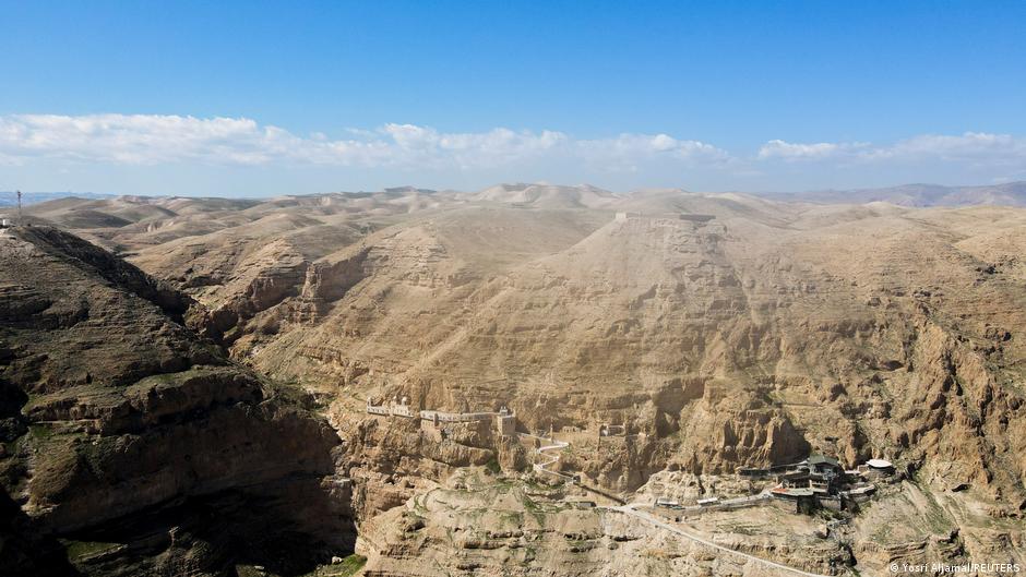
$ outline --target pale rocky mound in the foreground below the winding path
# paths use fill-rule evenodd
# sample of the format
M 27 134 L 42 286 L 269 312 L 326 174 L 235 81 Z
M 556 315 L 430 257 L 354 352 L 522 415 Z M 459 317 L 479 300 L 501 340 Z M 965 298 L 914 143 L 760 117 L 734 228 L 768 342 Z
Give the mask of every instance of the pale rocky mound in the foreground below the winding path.
M 783 515 L 782 515 L 783 517 Z M 814 538 L 806 521 L 760 540 L 743 534 L 724 545 L 808 572 L 839 575 L 847 553 Z M 553 502 L 538 488 L 434 488 L 363 524 L 357 551 L 366 575 L 788 575 L 724 554 L 623 513 Z

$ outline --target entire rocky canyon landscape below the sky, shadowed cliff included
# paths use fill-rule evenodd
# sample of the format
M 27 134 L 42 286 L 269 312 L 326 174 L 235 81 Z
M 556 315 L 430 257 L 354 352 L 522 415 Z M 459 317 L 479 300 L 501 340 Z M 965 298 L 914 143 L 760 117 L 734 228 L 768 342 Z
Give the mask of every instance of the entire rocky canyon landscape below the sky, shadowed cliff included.
M 789 575 L 603 495 L 744 495 L 738 468 L 816 453 L 896 473 L 831 531 L 681 530 L 816 575 L 1026 564 L 1024 208 L 504 184 L 26 215 L 0 236 L 12 575 Z M 508 407 L 580 483 L 382 399 Z

